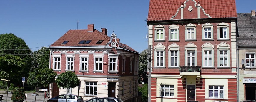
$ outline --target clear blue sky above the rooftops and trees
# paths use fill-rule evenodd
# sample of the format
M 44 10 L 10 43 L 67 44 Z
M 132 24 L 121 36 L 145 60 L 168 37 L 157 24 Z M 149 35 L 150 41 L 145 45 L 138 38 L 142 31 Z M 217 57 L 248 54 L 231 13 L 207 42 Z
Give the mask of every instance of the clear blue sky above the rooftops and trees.
M 120 42 L 147 49 L 149 0 L 0 0 L 0 34 L 14 33 L 31 50 L 51 45 L 70 29 L 113 30 Z M 256 0 L 236 0 L 237 13 L 256 9 Z M 49 47 L 49 46 L 47 46 Z

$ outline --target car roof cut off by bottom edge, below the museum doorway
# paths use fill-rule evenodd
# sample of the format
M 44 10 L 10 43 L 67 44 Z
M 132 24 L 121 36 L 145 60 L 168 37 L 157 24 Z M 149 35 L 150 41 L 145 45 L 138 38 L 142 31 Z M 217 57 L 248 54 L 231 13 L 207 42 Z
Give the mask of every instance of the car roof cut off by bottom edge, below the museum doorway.
M 114 97 L 96 97 L 85 102 L 124 102 L 124 101 Z

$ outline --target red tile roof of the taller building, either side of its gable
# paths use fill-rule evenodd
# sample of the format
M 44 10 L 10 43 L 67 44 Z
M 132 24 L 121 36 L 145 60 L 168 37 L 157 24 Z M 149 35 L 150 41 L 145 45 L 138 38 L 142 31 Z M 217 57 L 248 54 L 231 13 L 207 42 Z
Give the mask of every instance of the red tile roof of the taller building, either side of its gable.
M 150 0 L 148 21 L 170 20 L 187 0 Z M 237 17 L 235 0 L 195 0 L 212 18 Z

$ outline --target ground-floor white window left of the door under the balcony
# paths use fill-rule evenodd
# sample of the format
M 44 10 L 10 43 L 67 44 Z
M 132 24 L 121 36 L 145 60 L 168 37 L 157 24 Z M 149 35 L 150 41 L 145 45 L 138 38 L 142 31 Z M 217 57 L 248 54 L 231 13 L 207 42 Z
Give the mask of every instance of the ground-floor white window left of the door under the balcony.
M 161 85 L 160 90 L 161 97 L 173 97 L 174 85 Z

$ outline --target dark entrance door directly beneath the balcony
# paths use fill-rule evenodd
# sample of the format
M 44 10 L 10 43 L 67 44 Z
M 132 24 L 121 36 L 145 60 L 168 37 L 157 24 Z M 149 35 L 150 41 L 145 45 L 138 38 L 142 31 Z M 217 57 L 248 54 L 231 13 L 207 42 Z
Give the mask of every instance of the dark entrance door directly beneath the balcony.
M 195 101 L 195 92 L 196 92 L 196 86 L 195 85 L 187 85 L 187 101 L 192 100 Z

